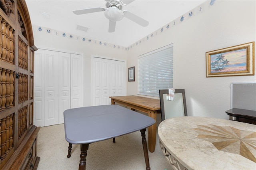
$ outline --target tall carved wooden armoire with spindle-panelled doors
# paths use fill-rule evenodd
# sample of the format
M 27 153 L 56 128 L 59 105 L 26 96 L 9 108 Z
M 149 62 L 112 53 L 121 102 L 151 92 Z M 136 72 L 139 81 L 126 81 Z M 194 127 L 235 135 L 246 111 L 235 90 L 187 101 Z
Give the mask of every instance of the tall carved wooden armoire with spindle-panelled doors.
M 0 169 L 36 169 L 34 46 L 25 0 L 0 0 Z

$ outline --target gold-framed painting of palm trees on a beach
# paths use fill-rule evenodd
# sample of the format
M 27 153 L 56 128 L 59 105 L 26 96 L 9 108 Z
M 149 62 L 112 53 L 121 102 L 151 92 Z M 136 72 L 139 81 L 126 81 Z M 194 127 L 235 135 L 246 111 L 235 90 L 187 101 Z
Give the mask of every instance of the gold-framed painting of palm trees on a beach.
M 206 77 L 254 75 L 254 42 L 206 52 Z

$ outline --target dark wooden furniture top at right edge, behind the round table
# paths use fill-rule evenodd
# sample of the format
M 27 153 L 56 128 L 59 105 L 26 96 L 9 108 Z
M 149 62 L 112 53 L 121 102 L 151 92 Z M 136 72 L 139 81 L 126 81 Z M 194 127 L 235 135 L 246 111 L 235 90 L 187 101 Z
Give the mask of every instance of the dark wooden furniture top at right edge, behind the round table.
M 229 120 L 256 125 L 256 111 L 233 108 L 226 113 L 229 115 Z

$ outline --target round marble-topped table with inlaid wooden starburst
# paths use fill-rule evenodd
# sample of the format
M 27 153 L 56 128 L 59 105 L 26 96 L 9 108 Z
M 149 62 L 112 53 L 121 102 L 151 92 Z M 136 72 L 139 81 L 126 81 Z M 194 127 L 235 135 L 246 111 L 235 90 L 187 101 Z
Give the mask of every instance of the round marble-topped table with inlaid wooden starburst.
M 162 121 L 158 135 L 164 155 L 176 169 L 182 165 L 189 170 L 256 169 L 256 125 L 176 117 Z

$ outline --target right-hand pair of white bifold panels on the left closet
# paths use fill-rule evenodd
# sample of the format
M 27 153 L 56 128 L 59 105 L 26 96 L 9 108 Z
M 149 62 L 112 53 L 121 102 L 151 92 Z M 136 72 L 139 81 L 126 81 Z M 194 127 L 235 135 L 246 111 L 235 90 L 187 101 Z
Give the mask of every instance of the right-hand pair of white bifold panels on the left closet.
M 63 112 L 83 107 L 82 97 L 82 56 L 58 52 L 58 124 L 64 123 Z

